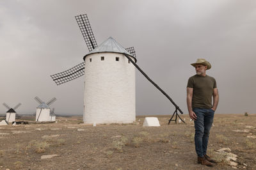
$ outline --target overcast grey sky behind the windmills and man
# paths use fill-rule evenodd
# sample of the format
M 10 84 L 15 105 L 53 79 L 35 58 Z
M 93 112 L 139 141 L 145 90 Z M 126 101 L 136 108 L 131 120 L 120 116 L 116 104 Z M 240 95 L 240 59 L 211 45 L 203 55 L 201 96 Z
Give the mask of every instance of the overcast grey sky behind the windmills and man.
M 220 93 L 216 113 L 256 113 L 256 1 L 0 1 L 0 103 L 35 112 L 40 97 L 57 114 L 83 114 L 84 77 L 56 86 L 50 75 L 88 53 L 74 16 L 87 13 L 100 44 L 134 46 L 148 76 L 184 113 L 190 65 L 205 58 Z M 136 70 L 136 114 L 171 114 L 173 105 Z M 6 108 L 0 106 L 0 113 Z

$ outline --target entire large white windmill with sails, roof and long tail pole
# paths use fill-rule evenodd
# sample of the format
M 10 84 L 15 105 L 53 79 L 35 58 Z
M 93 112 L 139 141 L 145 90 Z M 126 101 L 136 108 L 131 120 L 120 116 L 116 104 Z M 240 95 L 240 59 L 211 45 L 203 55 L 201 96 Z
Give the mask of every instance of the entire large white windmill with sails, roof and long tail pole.
M 60 85 L 85 73 L 84 123 L 132 123 L 135 120 L 135 67 L 175 105 L 176 121 L 177 111 L 183 112 L 136 65 L 134 47 L 124 49 L 111 37 L 97 47 L 87 15 L 77 15 L 76 20 L 90 52 L 84 56 L 83 63 L 51 77 Z

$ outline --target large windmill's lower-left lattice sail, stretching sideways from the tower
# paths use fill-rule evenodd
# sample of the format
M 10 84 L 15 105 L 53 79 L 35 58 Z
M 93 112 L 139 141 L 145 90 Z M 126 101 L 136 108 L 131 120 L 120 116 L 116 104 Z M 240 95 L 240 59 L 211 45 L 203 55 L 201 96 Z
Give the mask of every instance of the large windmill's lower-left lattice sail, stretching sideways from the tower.
M 51 75 L 52 80 L 57 84 L 63 84 L 68 81 L 72 81 L 74 79 L 77 79 L 78 77 L 81 77 L 84 75 L 84 62 L 80 63 L 79 65 L 76 65 L 69 70 L 66 70 L 61 73 L 56 73 L 54 75 Z

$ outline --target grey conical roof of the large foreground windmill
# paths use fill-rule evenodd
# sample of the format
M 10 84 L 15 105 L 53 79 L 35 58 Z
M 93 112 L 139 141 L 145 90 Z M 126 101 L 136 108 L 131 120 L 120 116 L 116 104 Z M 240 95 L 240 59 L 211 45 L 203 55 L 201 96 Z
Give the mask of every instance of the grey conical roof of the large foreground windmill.
M 132 56 L 131 53 L 129 53 L 127 50 L 125 50 L 124 47 L 122 47 L 122 45 L 120 45 L 120 43 L 116 42 L 116 40 L 112 37 L 109 37 L 107 40 L 102 42 L 98 47 L 96 47 L 91 52 L 86 54 L 83 59 L 85 59 L 86 56 L 88 56 L 90 54 L 94 54 L 94 53 L 98 53 L 98 52 L 116 52 L 116 53 L 121 53 L 121 54 L 125 53 L 136 60 L 136 58 L 134 56 Z

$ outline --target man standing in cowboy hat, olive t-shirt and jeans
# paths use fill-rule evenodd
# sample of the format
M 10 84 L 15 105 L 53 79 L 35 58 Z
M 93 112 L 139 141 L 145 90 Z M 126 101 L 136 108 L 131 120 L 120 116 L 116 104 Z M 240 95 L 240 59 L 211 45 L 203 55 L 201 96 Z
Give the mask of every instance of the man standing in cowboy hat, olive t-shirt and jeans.
M 196 75 L 188 79 L 187 105 L 189 116 L 195 123 L 195 149 L 198 164 L 214 166 L 212 163 L 216 161 L 206 155 L 206 152 L 214 112 L 219 102 L 218 89 L 215 79 L 205 73 L 211 68 L 208 61 L 197 59 L 196 63 L 191 65 L 195 67 Z

